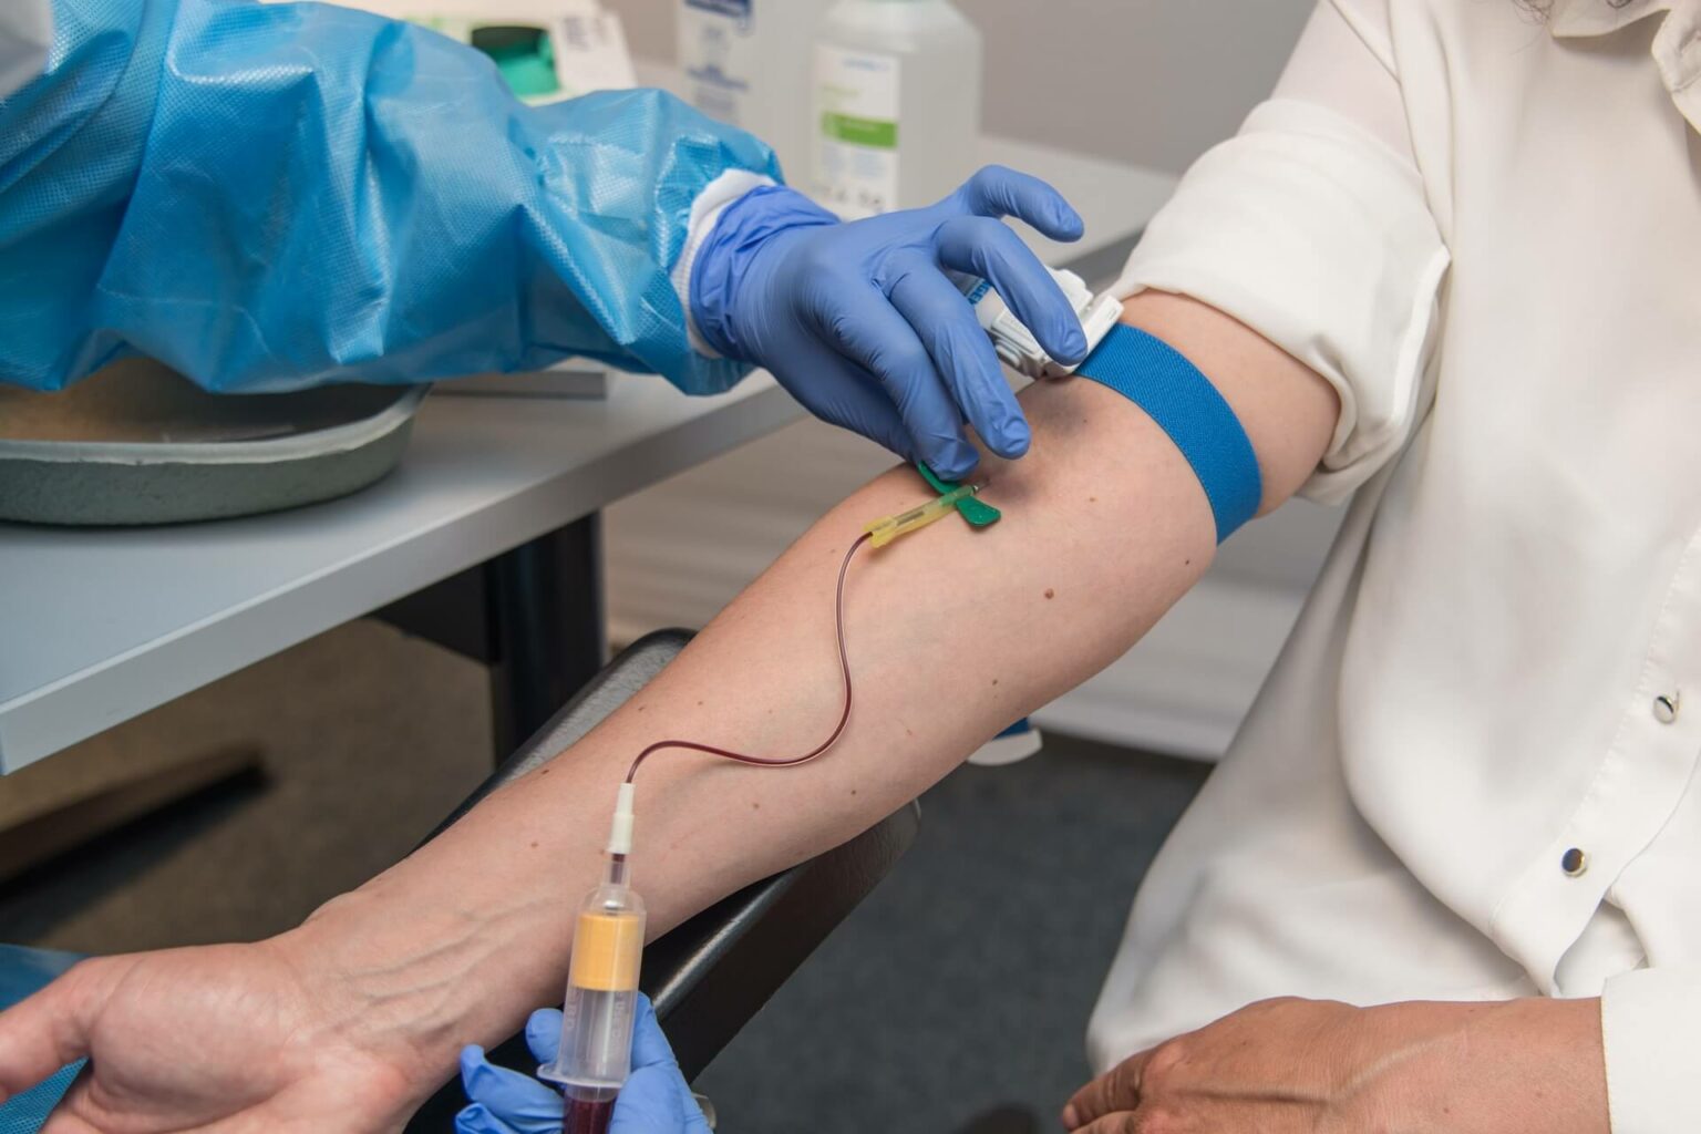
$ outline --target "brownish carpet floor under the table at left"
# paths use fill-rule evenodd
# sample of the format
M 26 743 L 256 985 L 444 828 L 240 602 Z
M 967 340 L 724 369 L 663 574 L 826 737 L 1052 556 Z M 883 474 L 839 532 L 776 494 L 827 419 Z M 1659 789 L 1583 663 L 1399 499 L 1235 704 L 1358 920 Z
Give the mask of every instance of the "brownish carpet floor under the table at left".
M 255 940 L 407 855 L 490 772 L 478 665 L 352 622 L 0 779 L 0 821 L 179 751 L 259 741 L 202 792 L 0 889 L 0 940 L 128 952 Z

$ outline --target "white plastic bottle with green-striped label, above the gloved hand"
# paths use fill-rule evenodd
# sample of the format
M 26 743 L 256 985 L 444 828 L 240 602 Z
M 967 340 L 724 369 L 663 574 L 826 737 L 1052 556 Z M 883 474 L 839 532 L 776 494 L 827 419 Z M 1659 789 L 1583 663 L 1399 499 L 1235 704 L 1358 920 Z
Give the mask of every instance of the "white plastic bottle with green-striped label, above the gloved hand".
M 810 190 L 844 218 L 930 204 L 975 172 L 980 31 L 949 0 L 840 0 L 815 46 Z

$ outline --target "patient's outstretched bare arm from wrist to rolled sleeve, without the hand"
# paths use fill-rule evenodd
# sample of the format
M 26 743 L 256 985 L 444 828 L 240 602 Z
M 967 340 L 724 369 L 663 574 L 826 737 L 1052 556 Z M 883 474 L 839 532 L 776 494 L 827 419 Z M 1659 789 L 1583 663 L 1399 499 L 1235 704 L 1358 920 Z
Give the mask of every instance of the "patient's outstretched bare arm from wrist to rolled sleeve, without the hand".
M 1155 296 L 1131 316 L 1201 364 L 1254 439 L 1266 503 L 1317 462 L 1334 394 L 1221 315 Z M 1024 396 L 1034 444 L 978 479 L 1004 520 L 956 519 L 864 549 L 845 627 L 856 709 L 815 763 L 769 770 L 663 751 L 638 777 L 634 884 L 663 932 L 913 799 L 983 740 L 1133 644 L 1204 571 L 1215 530 L 1177 449 L 1089 381 Z M 929 496 L 898 469 L 799 539 L 633 702 L 565 758 L 294 938 L 361 989 L 367 1025 L 407 1029 L 422 1076 L 560 996 L 572 913 L 600 869 L 616 784 L 646 743 L 793 755 L 839 714 L 833 580 L 864 522 Z M 357 927 L 350 928 L 350 927 Z

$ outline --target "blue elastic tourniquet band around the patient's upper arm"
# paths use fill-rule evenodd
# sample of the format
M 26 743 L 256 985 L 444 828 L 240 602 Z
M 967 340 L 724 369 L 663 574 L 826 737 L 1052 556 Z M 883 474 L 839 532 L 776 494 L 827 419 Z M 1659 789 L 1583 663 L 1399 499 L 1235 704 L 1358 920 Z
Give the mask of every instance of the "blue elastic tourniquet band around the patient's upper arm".
M 1247 430 L 1186 355 L 1118 323 L 1077 372 L 1123 394 L 1169 434 L 1211 502 L 1216 542 L 1259 513 L 1264 478 Z

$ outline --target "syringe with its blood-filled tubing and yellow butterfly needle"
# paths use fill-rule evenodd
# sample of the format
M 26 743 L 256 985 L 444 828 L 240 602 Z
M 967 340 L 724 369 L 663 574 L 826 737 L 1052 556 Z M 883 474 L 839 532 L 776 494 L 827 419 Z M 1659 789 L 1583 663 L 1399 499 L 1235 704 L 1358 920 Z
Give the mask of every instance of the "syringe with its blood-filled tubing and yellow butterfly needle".
M 628 882 L 628 859 L 633 850 L 633 784 L 643 762 L 665 748 L 682 748 L 740 763 L 794 767 L 828 751 L 850 723 L 850 656 L 845 649 L 845 576 L 850 561 L 864 546 L 885 547 L 900 536 L 920 530 L 951 515 L 980 486 L 964 485 L 898 515 L 869 524 L 839 563 L 833 598 L 833 626 L 839 644 L 839 673 L 844 682 L 844 709 L 839 723 L 820 745 L 798 757 L 754 757 L 689 740 L 663 740 L 650 745 L 633 760 L 614 804 L 609 828 L 607 870 L 578 910 L 573 930 L 573 959 L 561 1008 L 561 1049 L 556 1061 L 538 1069 L 556 1083 L 566 1097 L 563 1134 L 604 1134 L 631 1071 L 631 1040 L 638 1012 L 638 971 L 643 955 L 645 908 Z M 992 512 L 990 508 L 987 512 Z M 995 517 L 997 513 L 992 512 Z

